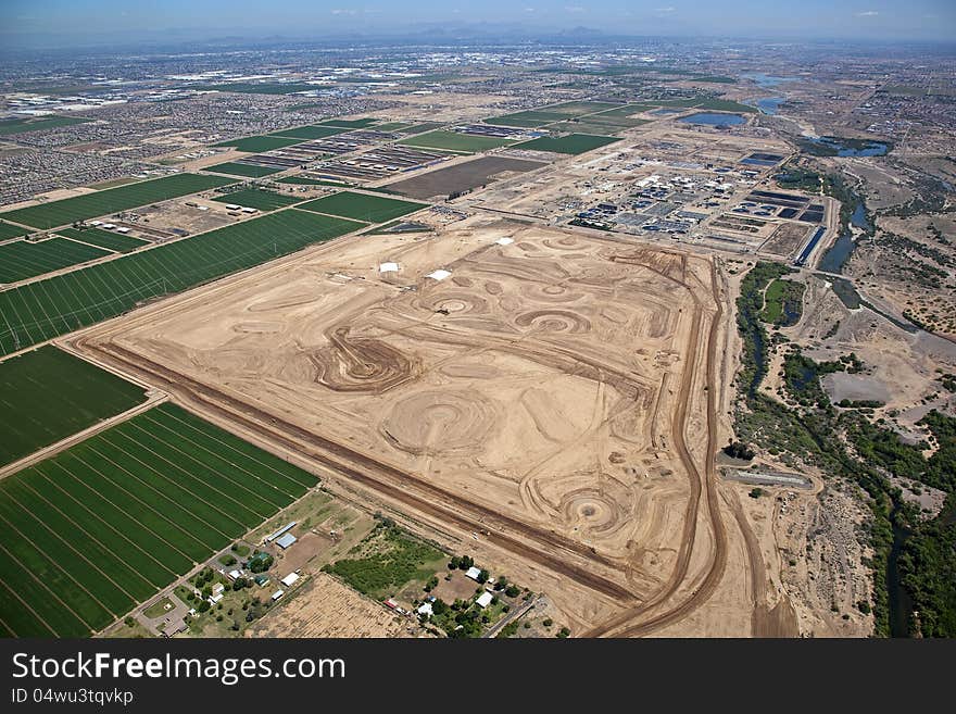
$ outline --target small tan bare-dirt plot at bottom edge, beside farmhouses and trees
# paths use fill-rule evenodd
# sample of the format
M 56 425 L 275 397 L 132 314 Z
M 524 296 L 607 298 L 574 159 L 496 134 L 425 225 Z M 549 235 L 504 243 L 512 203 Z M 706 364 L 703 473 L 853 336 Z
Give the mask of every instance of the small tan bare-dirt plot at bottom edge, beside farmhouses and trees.
M 417 621 L 402 617 L 326 573 L 271 611 L 247 637 L 419 637 Z

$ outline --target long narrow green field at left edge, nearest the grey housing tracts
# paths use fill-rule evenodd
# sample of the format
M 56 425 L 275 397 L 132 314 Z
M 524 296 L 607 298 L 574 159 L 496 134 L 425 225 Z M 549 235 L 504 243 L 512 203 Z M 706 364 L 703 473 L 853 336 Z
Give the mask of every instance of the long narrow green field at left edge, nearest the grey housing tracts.
M 176 174 L 175 176 L 127 184 L 105 191 L 85 193 L 61 201 L 50 201 L 26 209 L 8 211 L 0 214 L 0 217 L 35 228 L 54 228 L 74 221 L 128 211 L 140 205 L 167 201 L 231 183 L 234 179 L 221 176 Z

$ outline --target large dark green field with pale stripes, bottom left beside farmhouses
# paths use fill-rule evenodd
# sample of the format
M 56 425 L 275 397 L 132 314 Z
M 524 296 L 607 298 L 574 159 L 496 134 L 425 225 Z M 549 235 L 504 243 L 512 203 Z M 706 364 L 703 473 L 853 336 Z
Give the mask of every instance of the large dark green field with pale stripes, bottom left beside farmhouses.
M 81 637 L 317 479 L 172 404 L 0 483 L 0 634 Z

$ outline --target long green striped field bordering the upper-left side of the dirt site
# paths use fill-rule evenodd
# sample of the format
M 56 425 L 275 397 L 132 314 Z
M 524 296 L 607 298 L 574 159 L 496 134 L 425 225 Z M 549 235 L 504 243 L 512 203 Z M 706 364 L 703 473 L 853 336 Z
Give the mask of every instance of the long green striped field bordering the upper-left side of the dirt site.
M 363 225 L 294 209 L 280 211 L 2 291 L 0 354 L 115 317 L 143 300 L 186 290 Z

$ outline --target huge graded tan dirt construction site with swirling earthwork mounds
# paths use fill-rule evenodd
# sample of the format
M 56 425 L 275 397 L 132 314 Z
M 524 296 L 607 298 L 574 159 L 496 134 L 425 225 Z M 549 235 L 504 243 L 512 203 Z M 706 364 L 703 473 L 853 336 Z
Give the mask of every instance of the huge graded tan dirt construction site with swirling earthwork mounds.
M 725 579 L 751 603 L 713 468 L 721 301 L 708 258 L 479 215 L 335 241 L 73 342 L 546 591 L 575 632 L 644 635 Z

